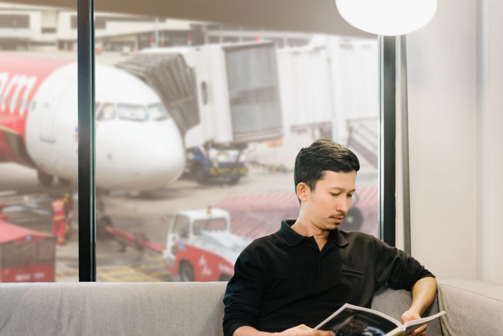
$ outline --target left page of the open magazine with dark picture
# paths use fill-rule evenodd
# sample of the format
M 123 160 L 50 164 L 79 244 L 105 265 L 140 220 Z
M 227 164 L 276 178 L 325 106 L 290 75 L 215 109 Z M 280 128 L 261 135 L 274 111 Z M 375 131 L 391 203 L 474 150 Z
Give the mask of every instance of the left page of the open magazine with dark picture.
M 381 312 L 346 303 L 315 329 L 332 330 L 336 336 L 384 336 L 401 323 Z

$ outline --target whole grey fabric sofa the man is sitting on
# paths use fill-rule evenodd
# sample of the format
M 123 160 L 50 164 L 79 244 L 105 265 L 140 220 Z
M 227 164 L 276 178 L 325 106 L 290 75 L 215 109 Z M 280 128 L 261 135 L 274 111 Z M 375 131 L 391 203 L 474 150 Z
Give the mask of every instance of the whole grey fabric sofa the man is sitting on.
M 226 283 L 0 284 L 0 335 L 221 335 Z M 396 319 L 410 292 L 379 290 L 372 307 Z M 439 280 L 428 335 L 503 334 L 503 286 Z

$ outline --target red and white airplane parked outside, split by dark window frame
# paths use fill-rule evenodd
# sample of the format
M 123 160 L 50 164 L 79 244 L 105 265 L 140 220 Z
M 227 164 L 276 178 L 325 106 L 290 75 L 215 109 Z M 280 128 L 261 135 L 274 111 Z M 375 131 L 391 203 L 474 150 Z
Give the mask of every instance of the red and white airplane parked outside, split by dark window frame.
M 41 185 L 77 184 L 77 63 L 0 54 L 0 162 L 38 172 Z M 96 64 L 96 185 L 139 192 L 176 181 L 186 153 L 160 99 L 124 70 Z

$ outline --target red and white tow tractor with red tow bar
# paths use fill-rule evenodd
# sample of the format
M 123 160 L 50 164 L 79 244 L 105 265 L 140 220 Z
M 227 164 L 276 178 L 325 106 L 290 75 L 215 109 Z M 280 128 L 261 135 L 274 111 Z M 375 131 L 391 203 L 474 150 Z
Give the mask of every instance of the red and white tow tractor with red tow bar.
M 112 225 L 105 230 L 116 237 L 120 251 L 134 245 L 162 255 L 165 268 L 181 281 L 228 281 L 234 275 L 234 263 L 251 239 L 230 232 L 229 213 L 208 207 L 182 210 L 168 224 L 166 246 L 150 242 L 142 232 L 126 233 Z

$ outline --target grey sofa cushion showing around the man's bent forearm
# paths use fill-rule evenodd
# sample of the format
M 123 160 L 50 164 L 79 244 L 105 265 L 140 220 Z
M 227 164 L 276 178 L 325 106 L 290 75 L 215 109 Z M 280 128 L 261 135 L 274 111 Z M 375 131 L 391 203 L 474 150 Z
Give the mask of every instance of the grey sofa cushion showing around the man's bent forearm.
M 430 307 L 425 311 L 423 317 L 430 316 L 439 312 L 437 297 L 433 300 Z M 389 286 L 382 286 L 374 295 L 372 299 L 371 308 L 378 310 L 401 321 L 401 316 L 404 311 L 410 308 L 412 304 L 412 295 L 409 291 L 404 289 L 394 290 Z M 440 329 L 440 320 L 435 319 L 428 323 L 426 328 L 427 336 L 439 336 L 442 334 Z

